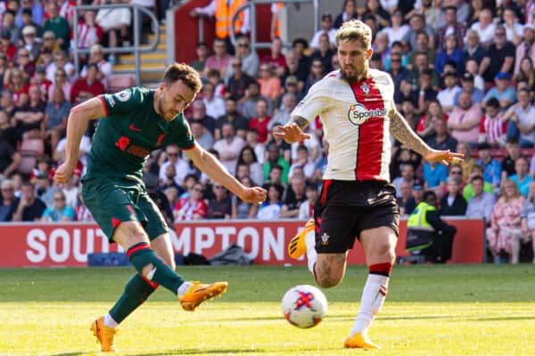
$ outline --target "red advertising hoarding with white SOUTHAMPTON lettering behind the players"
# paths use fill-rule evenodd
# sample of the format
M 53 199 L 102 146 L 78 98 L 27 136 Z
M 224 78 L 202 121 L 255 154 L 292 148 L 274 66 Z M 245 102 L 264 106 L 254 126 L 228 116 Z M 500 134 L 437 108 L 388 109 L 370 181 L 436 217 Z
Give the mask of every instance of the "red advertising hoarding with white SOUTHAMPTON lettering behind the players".
M 484 225 L 482 220 L 450 220 L 457 226 L 450 263 L 483 261 Z M 177 223 L 171 234 L 175 251 L 190 252 L 210 258 L 230 244 L 243 246 L 255 264 L 305 264 L 286 253 L 289 239 L 299 231 L 300 221 L 205 221 Z M 407 255 L 407 224 L 399 224 L 398 255 Z M 87 254 L 120 252 L 109 244 L 93 223 L 3 223 L 0 224 L 0 267 L 86 266 Z M 350 264 L 365 263 L 358 242 L 350 252 Z

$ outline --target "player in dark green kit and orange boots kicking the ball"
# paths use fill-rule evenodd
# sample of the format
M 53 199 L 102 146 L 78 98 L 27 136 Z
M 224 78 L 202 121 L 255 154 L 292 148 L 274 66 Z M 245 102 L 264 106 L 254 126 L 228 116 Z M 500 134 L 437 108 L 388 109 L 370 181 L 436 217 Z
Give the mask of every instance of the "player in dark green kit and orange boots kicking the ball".
M 54 179 L 58 184 L 70 180 L 89 120 L 102 117 L 87 155 L 84 202 L 110 241 L 127 251 L 137 271 L 110 312 L 91 326 L 103 352 L 115 351 L 119 323 L 160 285 L 177 295 L 186 311 L 226 291 L 226 282 L 188 282 L 175 272 L 168 227 L 142 181 L 142 167 L 152 150 L 177 144 L 195 166 L 242 200 L 260 204 L 266 199 L 266 190 L 244 187 L 195 143 L 183 111 L 201 87 L 193 68 L 175 63 L 158 89 L 136 86 L 100 95 L 70 110 L 67 155 Z

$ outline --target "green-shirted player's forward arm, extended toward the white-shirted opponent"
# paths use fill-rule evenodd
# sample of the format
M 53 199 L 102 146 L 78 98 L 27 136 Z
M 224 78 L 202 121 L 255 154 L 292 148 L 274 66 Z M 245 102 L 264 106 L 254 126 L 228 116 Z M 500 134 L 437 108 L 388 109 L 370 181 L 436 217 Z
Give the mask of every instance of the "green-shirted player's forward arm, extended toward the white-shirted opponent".
M 232 191 L 243 201 L 261 204 L 268 197 L 266 190 L 260 187 L 248 188 L 241 182 L 238 182 L 234 176 L 228 174 L 226 168 L 221 165 L 217 158 L 196 143 L 193 150 L 185 150 L 185 153 L 193 161 L 195 166 L 205 174 L 208 174 L 212 181 L 225 186 L 227 190 Z

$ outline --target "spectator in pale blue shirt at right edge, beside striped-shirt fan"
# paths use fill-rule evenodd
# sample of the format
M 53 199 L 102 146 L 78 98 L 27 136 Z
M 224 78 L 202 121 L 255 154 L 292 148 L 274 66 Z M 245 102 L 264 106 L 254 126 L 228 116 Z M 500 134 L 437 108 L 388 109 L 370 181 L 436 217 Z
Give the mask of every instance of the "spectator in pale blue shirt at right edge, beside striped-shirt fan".
M 530 91 L 520 89 L 516 93 L 518 102 L 504 114 L 507 122 L 507 138 L 518 139 L 520 147 L 531 148 L 535 145 L 535 107 L 531 105 Z

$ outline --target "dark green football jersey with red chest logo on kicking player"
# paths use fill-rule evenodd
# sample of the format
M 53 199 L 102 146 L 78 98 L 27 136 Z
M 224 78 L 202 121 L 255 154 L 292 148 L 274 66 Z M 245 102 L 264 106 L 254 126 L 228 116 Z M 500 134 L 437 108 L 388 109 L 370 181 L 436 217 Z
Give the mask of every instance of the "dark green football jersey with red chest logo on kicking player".
M 142 168 L 152 150 L 170 143 L 184 150 L 193 148 L 184 115 L 164 120 L 154 111 L 153 90 L 135 86 L 99 99 L 106 117 L 100 119 L 87 154 L 85 180 L 110 177 L 143 182 Z

